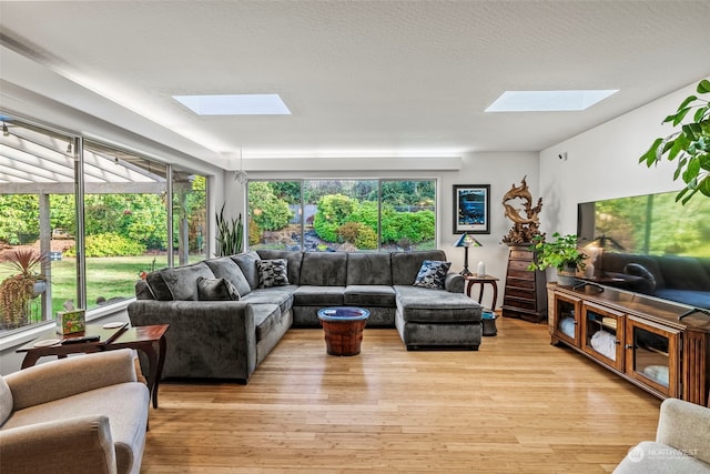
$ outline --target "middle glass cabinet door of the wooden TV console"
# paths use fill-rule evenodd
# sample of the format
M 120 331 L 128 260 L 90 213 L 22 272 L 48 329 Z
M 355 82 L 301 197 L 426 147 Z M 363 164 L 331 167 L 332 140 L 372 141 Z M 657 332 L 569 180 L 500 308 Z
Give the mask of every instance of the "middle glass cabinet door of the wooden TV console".
M 595 359 L 623 370 L 623 313 L 582 304 L 582 350 Z

